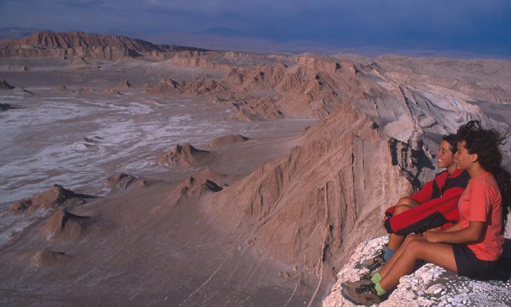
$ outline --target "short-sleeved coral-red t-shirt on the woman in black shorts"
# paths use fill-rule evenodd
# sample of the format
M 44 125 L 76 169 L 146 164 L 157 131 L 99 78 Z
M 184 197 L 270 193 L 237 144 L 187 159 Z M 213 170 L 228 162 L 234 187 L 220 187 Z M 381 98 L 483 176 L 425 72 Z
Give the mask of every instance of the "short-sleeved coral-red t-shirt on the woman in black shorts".
M 484 222 L 480 240 L 468 244 L 480 260 L 494 261 L 501 257 L 504 234 L 502 225 L 502 196 L 494 177 L 484 172 L 470 179 L 458 202 L 461 228 L 470 221 Z

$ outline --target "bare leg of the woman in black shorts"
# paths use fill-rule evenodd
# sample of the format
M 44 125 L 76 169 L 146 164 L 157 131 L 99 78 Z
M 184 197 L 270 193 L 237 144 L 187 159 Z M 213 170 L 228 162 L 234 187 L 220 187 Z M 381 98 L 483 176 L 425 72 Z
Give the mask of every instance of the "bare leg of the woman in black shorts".
M 431 243 L 426 240 L 410 241 L 403 252 L 391 266 L 387 274 L 382 276 L 380 285 L 385 290 L 391 290 L 399 284 L 401 276 L 412 273 L 417 260 L 431 262 L 449 271 L 457 273 L 456 260 L 452 245 L 445 243 Z M 381 274 L 380 274 L 381 275 Z

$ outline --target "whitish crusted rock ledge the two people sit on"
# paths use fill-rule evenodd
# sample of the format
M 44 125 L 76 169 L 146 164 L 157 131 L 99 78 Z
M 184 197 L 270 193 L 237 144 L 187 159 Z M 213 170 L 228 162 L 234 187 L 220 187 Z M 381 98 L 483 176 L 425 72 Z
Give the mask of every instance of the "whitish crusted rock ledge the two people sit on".
M 324 307 L 353 306 L 340 294 L 340 283 L 359 280 L 366 273 L 360 262 L 374 256 L 387 243 L 387 237 L 368 239 L 352 254 L 350 262 L 337 274 L 337 282 L 322 303 Z M 403 276 L 387 301 L 379 306 L 510 306 L 511 284 L 491 280 L 470 280 L 426 264 L 414 274 Z

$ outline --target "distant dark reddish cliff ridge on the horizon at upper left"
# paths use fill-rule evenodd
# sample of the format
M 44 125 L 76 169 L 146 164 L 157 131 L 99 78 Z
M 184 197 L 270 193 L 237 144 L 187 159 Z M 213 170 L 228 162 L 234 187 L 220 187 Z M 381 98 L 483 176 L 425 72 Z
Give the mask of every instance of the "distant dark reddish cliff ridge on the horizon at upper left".
M 116 60 L 122 57 L 171 57 L 173 52 L 204 51 L 200 48 L 156 45 L 126 36 L 43 31 L 17 40 L 0 42 L 0 57 L 85 57 L 88 59 Z

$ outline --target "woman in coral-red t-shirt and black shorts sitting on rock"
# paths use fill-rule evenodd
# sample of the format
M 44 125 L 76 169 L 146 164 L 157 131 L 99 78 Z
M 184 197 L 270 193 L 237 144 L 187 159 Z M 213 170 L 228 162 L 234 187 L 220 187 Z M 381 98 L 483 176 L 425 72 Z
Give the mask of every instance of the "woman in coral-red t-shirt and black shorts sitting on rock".
M 499 145 L 507 136 L 484 130 L 469 121 L 456 133 L 457 167 L 470 181 L 458 206 L 459 223 L 447 230 L 428 230 L 405 239 L 389 262 L 369 280 L 343 283 L 343 296 L 355 304 L 377 304 L 393 290 L 399 278 L 412 273 L 424 260 L 459 276 L 488 279 L 503 251 L 505 218 L 511 207 L 510 173 L 501 167 Z

